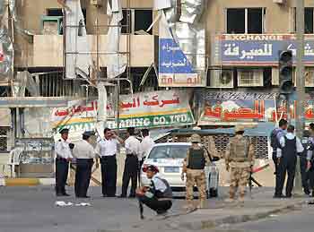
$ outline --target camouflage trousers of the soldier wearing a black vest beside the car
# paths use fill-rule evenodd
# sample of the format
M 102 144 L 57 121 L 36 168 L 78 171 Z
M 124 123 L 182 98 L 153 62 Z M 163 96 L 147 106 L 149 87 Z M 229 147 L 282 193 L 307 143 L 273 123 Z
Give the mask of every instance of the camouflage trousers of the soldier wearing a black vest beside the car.
M 197 186 L 199 192 L 200 207 L 204 207 L 206 199 L 206 177 L 204 170 L 193 170 L 187 169 L 187 195 L 186 198 L 188 203 L 191 204 L 193 201 L 193 188 Z

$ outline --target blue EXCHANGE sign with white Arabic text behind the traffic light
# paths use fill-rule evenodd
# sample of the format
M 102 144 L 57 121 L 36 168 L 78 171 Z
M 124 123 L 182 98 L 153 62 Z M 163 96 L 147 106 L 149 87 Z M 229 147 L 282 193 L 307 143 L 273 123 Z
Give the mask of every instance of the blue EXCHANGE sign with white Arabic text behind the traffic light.
M 291 34 L 228 34 L 217 36 L 214 44 L 217 65 L 277 65 L 281 50 L 292 50 L 296 62 L 297 41 Z M 305 36 L 304 64 L 314 65 L 313 35 Z

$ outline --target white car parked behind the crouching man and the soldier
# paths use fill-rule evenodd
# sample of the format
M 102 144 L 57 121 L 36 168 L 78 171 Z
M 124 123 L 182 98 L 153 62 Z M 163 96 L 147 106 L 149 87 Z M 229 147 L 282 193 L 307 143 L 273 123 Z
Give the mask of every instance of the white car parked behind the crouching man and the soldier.
M 154 165 L 159 168 L 159 176 L 166 179 L 173 191 L 184 192 L 186 182 L 181 179 L 183 160 L 187 157 L 188 148 L 191 143 L 188 142 L 166 142 L 157 143 L 148 152 L 144 159 L 143 167 L 141 168 L 141 184 L 149 185 L 149 180 L 146 177 L 143 169 L 148 165 Z M 205 168 L 207 176 L 207 197 L 218 196 L 218 180 L 219 170 L 212 164 Z

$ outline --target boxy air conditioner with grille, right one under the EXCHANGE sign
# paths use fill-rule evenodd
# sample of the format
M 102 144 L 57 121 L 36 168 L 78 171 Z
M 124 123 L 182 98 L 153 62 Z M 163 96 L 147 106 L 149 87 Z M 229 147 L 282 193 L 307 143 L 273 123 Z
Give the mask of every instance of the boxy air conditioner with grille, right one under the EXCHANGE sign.
M 238 85 L 240 87 L 263 86 L 264 85 L 263 69 L 239 70 Z

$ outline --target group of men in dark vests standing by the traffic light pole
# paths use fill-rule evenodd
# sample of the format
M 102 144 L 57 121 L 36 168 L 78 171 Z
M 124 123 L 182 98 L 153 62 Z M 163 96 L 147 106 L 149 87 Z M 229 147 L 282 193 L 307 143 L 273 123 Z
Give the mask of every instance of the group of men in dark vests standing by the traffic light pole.
M 271 133 L 271 146 L 275 164 L 275 198 L 283 197 L 283 185 L 288 175 L 284 197 L 291 198 L 294 185 L 297 159 L 300 156 L 302 186 L 305 194 L 314 196 L 314 124 L 310 132 L 304 131 L 302 140 L 295 136 L 294 126 L 288 125 L 285 119 L 279 121 L 279 127 Z

